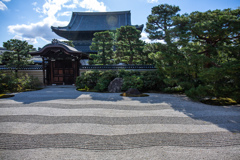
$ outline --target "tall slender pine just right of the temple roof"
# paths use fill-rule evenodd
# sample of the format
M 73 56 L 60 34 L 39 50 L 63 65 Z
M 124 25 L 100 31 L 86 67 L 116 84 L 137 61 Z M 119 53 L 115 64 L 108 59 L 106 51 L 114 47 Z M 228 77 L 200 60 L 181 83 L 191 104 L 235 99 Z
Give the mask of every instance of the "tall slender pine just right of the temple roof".
M 165 82 L 170 86 L 177 84 L 177 77 L 181 76 L 179 65 L 184 61 L 184 56 L 180 53 L 172 35 L 174 28 L 172 18 L 177 16 L 178 11 L 180 11 L 178 6 L 168 4 L 153 7 L 145 29 L 149 33 L 149 39 L 165 42 L 150 45 L 149 49 L 152 52 L 149 57 L 153 59 L 161 73 L 164 73 Z

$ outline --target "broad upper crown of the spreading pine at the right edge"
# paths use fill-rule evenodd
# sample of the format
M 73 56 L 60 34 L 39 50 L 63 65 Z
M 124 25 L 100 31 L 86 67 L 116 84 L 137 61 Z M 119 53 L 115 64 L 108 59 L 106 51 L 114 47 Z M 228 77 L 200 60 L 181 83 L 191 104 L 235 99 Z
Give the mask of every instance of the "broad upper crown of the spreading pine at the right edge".
M 183 48 L 210 58 L 205 67 L 219 66 L 239 58 L 239 15 L 240 9 L 225 9 L 176 16 L 173 32 Z

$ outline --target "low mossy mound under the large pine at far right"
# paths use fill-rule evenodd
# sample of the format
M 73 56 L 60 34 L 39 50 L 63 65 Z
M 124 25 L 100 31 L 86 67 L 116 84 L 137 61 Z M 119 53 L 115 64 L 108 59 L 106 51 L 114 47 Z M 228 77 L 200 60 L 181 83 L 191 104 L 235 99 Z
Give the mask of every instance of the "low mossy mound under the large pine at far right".
M 228 105 L 236 105 L 237 102 L 231 98 L 214 98 L 208 100 L 201 100 L 202 103 L 217 105 L 217 106 L 228 106 Z

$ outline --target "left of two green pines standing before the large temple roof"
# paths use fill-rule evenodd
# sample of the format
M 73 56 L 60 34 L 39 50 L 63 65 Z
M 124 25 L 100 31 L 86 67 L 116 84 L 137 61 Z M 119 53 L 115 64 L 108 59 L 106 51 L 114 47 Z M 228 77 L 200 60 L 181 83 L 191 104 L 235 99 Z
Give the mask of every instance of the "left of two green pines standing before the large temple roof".
M 114 33 L 110 31 L 96 32 L 91 50 L 98 51 L 98 54 L 91 54 L 90 57 L 93 59 L 90 64 L 110 64 L 113 58 L 113 45 L 114 45 Z

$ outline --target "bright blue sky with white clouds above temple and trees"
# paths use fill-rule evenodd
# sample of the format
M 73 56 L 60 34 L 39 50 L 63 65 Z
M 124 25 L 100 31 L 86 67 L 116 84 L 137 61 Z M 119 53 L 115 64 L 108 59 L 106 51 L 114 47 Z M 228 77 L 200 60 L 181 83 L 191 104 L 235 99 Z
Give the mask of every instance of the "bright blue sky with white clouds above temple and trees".
M 63 40 L 50 26 L 66 26 L 72 11 L 131 11 L 132 24 L 144 24 L 151 8 L 159 4 L 179 6 L 183 13 L 215 9 L 237 9 L 240 0 L 0 0 L 0 47 L 9 39 L 28 41 L 35 48 L 53 38 Z M 147 34 L 142 39 L 149 42 Z

